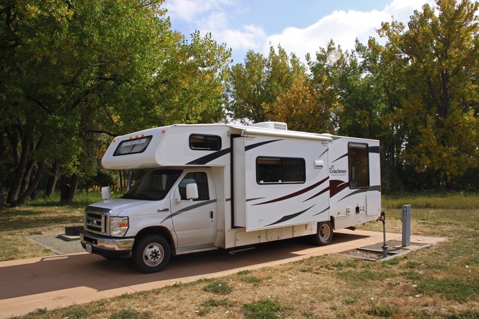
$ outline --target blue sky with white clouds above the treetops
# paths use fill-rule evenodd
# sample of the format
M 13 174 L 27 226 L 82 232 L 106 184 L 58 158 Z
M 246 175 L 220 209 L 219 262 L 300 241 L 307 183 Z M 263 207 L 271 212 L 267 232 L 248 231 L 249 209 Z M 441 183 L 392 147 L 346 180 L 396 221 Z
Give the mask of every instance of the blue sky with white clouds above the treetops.
M 376 37 L 382 21 L 406 23 L 432 0 L 166 0 L 171 28 L 187 38 L 207 32 L 233 49 L 233 64 L 249 50 L 267 54 L 280 44 L 287 53 L 314 56 L 333 39 L 344 50 L 358 38 Z

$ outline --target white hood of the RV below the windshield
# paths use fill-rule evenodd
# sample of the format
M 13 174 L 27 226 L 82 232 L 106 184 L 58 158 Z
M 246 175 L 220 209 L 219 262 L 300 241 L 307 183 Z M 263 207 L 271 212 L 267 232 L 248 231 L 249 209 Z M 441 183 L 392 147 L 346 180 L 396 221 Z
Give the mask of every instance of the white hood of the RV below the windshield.
M 111 216 L 132 216 L 132 215 L 149 215 L 157 212 L 161 202 L 168 202 L 168 198 L 163 200 L 134 200 L 115 198 L 111 200 L 103 200 L 88 205 L 89 207 L 99 207 L 111 210 Z M 169 206 L 169 202 L 167 204 Z

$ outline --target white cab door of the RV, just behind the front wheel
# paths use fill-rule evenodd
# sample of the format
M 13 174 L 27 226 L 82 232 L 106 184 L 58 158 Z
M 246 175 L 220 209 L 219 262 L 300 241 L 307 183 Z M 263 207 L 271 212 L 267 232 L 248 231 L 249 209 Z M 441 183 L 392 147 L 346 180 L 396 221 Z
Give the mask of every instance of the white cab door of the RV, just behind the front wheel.
M 198 198 L 187 198 L 187 184 L 196 184 Z M 210 171 L 183 173 L 171 198 L 171 216 L 178 247 L 215 242 L 217 204 Z

